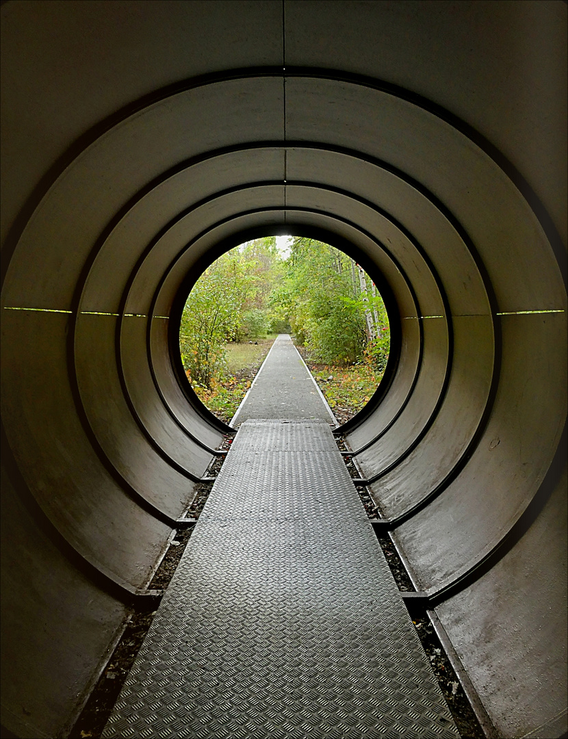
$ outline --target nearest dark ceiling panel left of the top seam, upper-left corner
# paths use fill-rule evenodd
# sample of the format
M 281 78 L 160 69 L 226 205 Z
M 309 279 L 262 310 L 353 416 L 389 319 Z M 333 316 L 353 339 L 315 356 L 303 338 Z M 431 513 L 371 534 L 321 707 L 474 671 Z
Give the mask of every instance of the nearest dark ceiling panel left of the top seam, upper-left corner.
M 10 2 L 2 20 L 2 130 L 13 142 L 2 150 L 2 241 L 38 180 L 101 120 L 180 80 L 282 61 L 272 0 L 174 0 L 167 12 L 154 0 Z

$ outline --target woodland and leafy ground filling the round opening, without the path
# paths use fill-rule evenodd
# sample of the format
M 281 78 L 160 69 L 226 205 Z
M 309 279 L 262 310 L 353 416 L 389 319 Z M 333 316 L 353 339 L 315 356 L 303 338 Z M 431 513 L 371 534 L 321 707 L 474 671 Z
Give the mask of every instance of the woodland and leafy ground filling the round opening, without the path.
M 177 361 L 202 414 L 231 423 L 279 334 L 292 336 L 338 424 L 375 398 L 389 366 L 389 312 L 346 251 L 312 235 L 256 236 L 184 287 Z

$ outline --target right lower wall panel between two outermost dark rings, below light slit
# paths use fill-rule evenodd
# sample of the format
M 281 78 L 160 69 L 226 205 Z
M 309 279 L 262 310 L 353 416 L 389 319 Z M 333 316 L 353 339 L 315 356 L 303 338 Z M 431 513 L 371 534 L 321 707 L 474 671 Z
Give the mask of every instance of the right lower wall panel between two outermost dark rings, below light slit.
M 566 359 L 552 367 L 546 347 L 558 346 L 566 333 L 565 314 L 504 316 L 501 380 L 475 452 L 428 508 L 396 530 L 422 588 L 437 588 L 470 568 L 533 500 L 567 413 Z

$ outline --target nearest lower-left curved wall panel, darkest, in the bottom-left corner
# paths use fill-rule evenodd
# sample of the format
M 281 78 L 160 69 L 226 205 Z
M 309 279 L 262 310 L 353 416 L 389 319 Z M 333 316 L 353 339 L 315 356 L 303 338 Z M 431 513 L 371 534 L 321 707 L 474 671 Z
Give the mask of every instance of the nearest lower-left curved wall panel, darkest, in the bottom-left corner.
M 4 471 L 1 490 L 2 722 L 30 739 L 68 735 L 126 607 L 69 562 Z

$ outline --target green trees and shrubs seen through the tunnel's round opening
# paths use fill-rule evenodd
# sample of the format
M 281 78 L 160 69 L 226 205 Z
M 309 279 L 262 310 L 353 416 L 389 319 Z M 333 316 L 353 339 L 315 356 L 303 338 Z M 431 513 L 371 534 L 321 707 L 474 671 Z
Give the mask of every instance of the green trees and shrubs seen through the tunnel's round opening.
M 313 363 L 364 365 L 377 382 L 389 356 L 389 321 L 372 280 L 343 252 L 304 237 L 290 240 L 286 256 L 275 236 L 247 242 L 199 277 L 179 334 L 196 392 L 225 392 L 234 381 L 229 343 L 254 344 L 268 333 L 292 333 Z

